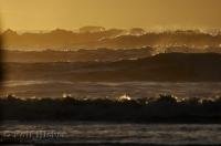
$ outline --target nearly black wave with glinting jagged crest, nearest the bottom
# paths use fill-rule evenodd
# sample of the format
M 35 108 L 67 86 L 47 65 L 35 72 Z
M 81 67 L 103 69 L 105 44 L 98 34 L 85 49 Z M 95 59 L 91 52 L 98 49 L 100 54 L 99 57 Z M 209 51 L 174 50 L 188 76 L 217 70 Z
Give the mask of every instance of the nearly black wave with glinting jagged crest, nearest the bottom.
M 77 100 L 27 98 L 0 100 L 2 119 L 20 121 L 103 121 L 144 123 L 221 123 L 221 98 Z

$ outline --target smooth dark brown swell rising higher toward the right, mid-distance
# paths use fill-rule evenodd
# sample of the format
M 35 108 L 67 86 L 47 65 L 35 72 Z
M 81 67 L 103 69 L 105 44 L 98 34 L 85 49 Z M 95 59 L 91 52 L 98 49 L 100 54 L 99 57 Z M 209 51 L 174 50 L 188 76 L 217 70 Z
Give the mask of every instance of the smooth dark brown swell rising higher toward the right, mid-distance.
M 4 63 L 7 80 L 221 81 L 221 54 L 166 53 L 139 60 L 82 63 Z

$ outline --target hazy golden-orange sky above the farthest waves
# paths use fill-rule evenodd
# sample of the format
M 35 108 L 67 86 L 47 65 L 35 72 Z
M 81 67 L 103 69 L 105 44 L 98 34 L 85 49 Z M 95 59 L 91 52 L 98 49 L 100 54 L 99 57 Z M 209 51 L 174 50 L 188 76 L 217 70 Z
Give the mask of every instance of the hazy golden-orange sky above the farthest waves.
M 221 29 L 221 0 L 0 0 L 2 29 Z

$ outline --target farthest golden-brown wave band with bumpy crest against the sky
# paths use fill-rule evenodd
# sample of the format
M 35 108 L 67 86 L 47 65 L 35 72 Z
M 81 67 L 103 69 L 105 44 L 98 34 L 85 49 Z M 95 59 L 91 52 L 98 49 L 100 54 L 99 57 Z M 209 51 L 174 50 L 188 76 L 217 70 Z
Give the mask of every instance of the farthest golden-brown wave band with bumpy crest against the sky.
M 78 49 L 137 49 L 144 46 L 218 48 L 221 33 L 203 33 L 194 30 L 145 32 L 104 28 L 83 28 L 80 32 L 56 29 L 51 32 L 23 33 L 7 30 L 2 33 L 4 49 L 9 50 L 78 50 Z

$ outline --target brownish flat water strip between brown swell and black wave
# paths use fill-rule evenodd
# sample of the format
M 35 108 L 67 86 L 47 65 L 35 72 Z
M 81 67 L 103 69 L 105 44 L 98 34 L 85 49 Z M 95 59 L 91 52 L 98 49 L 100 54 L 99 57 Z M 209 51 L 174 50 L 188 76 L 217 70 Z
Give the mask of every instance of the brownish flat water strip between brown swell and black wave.
M 70 82 L 70 81 L 6 81 L 0 95 L 19 97 L 62 97 L 71 94 L 77 98 L 115 98 L 123 94 L 137 97 L 157 97 L 173 94 L 178 97 L 221 96 L 220 82 Z

